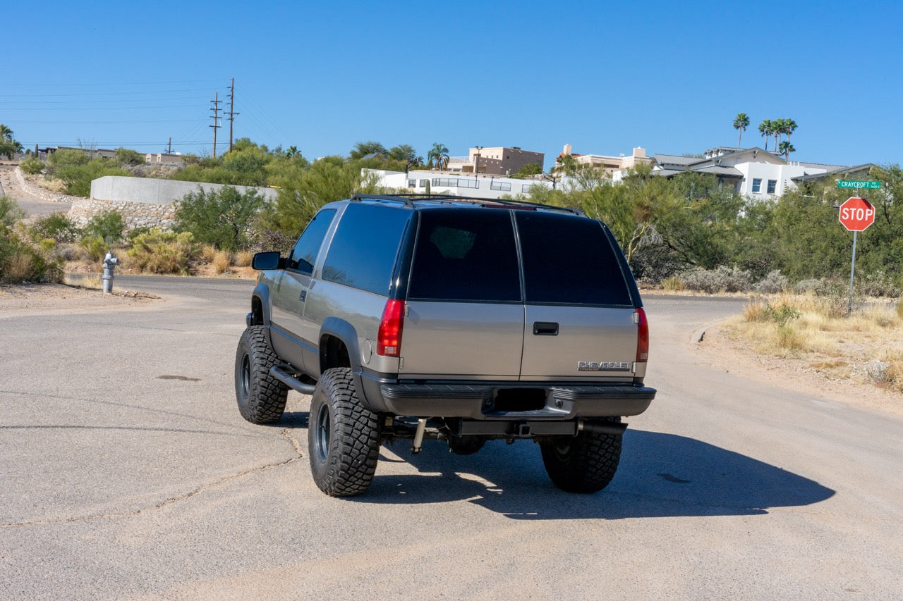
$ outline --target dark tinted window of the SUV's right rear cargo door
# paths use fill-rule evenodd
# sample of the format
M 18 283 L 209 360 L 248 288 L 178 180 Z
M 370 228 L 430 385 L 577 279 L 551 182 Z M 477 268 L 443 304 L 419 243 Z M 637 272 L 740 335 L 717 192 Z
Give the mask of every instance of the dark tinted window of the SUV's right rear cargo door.
M 618 256 L 599 222 L 517 211 L 526 301 L 630 305 Z

